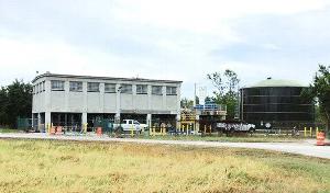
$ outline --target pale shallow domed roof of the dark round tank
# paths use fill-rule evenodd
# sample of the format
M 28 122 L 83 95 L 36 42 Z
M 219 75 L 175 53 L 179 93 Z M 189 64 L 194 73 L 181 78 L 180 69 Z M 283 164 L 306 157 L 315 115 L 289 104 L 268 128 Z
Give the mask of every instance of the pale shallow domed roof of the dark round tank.
M 268 78 L 267 80 L 260 81 L 255 84 L 248 86 L 242 89 L 261 88 L 261 87 L 307 87 L 307 86 L 304 86 L 296 80 L 280 80 L 280 79 L 276 80 L 276 79 Z

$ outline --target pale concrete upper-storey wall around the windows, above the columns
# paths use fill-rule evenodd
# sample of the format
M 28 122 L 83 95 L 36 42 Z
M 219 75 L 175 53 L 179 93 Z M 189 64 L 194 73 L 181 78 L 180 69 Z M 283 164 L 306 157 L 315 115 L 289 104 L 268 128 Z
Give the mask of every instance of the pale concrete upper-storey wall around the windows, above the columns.
M 52 91 L 51 80 L 65 81 L 65 91 Z M 33 95 L 33 113 L 51 112 L 74 113 L 119 113 L 141 112 L 153 114 L 179 112 L 180 83 L 139 82 L 139 81 L 105 81 L 96 79 L 68 79 L 44 77 L 34 84 L 45 81 L 45 91 Z M 69 81 L 82 81 L 82 92 L 69 91 Z M 99 82 L 100 92 L 87 92 L 87 82 Z M 117 90 L 122 83 L 132 84 L 133 93 L 105 93 L 105 83 L 116 83 Z M 146 94 L 136 94 L 136 84 L 147 84 Z M 151 86 L 162 86 L 162 95 L 153 95 Z M 166 95 L 166 86 L 177 87 L 177 95 Z M 86 116 L 86 114 L 85 114 Z

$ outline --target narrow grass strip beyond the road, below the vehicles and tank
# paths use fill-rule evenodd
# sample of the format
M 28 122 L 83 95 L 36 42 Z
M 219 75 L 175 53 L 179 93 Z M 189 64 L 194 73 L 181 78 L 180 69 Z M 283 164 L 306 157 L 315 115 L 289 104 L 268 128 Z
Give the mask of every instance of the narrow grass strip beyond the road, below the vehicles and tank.
M 157 136 L 139 136 L 139 138 L 157 139 L 157 140 L 204 140 L 204 141 L 229 141 L 229 143 L 290 143 L 304 140 L 301 137 L 290 136 L 264 136 L 264 135 L 252 135 L 252 136 L 196 136 L 196 135 L 157 135 Z

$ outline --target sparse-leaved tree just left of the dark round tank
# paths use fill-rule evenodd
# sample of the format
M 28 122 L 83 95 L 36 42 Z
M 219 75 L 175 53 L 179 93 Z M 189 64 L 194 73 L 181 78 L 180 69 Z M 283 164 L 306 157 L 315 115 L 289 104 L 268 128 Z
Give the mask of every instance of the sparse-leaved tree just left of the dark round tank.
M 227 69 L 223 73 L 221 72 L 213 72 L 207 75 L 207 78 L 212 82 L 215 88 L 217 89 L 213 91 L 213 100 L 218 104 L 226 104 L 227 105 L 227 117 L 234 118 L 238 114 L 238 86 L 240 79 L 238 75 Z

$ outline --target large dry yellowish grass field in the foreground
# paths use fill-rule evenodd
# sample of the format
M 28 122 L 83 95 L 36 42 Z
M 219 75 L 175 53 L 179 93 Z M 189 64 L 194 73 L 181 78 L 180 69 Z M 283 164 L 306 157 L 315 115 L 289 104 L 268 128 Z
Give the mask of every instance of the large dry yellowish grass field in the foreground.
M 231 148 L 0 139 L 0 192 L 330 192 L 330 160 Z

